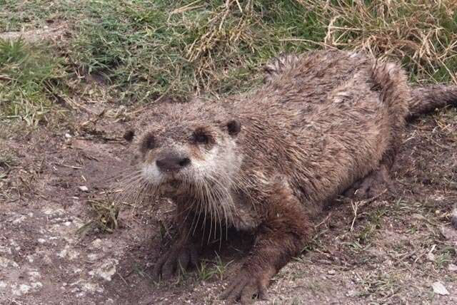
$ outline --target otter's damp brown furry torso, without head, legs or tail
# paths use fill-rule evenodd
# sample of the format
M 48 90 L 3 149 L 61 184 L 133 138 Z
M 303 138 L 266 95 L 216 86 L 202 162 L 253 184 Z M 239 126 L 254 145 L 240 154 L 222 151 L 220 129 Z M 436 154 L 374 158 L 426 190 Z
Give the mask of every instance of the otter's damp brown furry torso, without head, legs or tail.
M 233 107 L 250 192 L 283 183 L 309 214 L 320 211 L 391 153 L 409 98 L 391 63 L 343 52 L 296 58 Z

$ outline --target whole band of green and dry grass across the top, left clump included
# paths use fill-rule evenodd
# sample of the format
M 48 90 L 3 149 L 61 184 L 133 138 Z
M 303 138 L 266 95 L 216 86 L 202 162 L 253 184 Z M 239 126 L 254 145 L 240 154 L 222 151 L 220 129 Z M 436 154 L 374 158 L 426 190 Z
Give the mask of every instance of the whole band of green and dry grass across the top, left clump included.
M 6 66 L 0 62 L 7 77 L 0 79 L 0 109 L 30 124 L 46 118 L 56 101 L 49 91 L 69 81 L 65 71 L 79 76 L 71 74 L 71 81 L 101 77 L 109 95 L 100 98 L 150 103 L 185 100 L 196 91 L 247 91 L 280 52 L 343 48 L 401 61 L 411 81 L 457 82 L 451 0 L 0 0 L 0 7 L 0 32 L 68 25 L 69 39 L 58 48 L 1 42 L 13 56 Z

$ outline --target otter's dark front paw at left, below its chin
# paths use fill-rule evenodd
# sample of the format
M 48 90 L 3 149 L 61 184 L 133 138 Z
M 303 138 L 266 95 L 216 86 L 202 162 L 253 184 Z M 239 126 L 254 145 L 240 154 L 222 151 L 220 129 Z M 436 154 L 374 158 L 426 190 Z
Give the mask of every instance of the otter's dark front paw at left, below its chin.
M 169 279 L 190 265 L 199 263 L 198 249 L 194 244 L 174 244 L 168 252 L 164 253 L 154 267 L 156 279 Z

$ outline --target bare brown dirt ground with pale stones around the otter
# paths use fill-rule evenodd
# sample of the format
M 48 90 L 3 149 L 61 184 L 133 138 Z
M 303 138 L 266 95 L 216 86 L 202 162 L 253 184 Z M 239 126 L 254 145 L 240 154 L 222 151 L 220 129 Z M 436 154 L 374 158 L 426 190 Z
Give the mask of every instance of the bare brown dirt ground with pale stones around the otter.
M 71 120 L 0 128 L 0 304 L 221 304 L 243 257 L 234 244 L 221 249 L 223 263 L 209 257 L 208 272 L 151 279 L 168 240 L 166 203 L 134 213 L 122 205 L 112 233 L 77 232 L 96 217 L 91 202 L 106 200 L 111 177 L 129 167 L 129 122 L 119 113 L 137 109 L 80 102 L 67 110 Z M 391 173 L 396 194 L 336 200 L 309 249 L 258 304 L 457 304 L 457 233 L 449 224 L 456 140 L 453 109 L 409 125 Z M 221 264 L 228 266 L 213 272 Z

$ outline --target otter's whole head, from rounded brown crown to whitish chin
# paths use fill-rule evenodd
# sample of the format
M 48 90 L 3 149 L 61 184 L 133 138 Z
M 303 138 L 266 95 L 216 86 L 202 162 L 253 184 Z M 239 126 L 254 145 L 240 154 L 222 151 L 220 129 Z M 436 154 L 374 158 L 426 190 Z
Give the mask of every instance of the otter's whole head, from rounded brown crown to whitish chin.
M 163 105 L 137 140 L 141 176 L 173 197 L 230 187 L 241 158 L 236 140 L 241 124 L 214 104 Z

